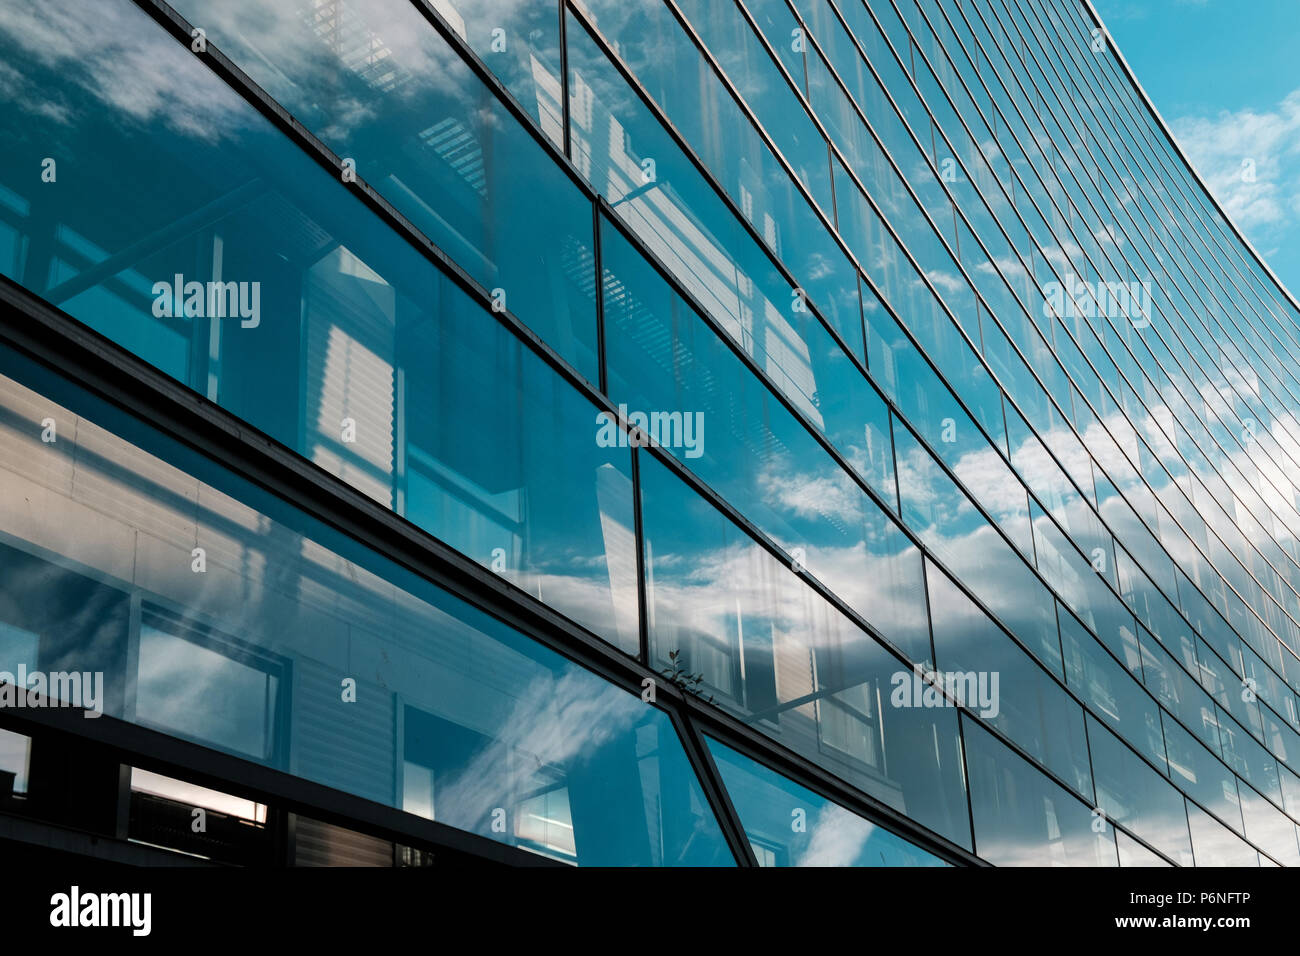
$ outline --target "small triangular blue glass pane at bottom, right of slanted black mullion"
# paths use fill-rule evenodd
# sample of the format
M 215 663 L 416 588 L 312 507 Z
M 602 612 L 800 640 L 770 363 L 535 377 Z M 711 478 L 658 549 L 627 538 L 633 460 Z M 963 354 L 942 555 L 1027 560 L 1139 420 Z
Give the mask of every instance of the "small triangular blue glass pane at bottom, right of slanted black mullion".
M 945 866 L 939 857 L 706 737 L 760 866 Z

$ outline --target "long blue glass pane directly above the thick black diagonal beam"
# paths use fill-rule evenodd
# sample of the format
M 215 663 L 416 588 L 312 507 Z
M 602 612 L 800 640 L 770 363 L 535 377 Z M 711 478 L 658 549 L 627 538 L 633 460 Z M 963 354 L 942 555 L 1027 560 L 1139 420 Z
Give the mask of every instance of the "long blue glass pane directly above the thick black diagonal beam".
M 436 38 L 399 5 L 420 20 L 403 43 Z M 133 5 L 105 5 L 104 36 L 84 56 L 75 43 L 32 46 L 46 31 L 82 35 L 74 7 L 0 25 L 0 60 L 65 111 L 32 112 L 0 90 L 0 187 L 31 212 L 10 277 L 634 650 L 630 453 L 593 440 L 590 402 Z M 294 42 L 308 34 L 321 42 L 315 29 Z M 122 69 L 147 83 L 138 100 L 122 99 Z M 446 79 L 432 66 L 421 75 L 410 83 Z M 30 176 L 51 153 L 81 169 L 57 189 Z M 526 179 L 516 172 L 502 170 L 510 190 Z M 514 220 L 538 195 L 516 196 L 503 242 L 523 241 Z M 478 209 L 464 215 L 489 229 Z M 545 221 L 546 247 L 563 247 L 563 220 L 523 219 Z M 508 259 L 545 265 L 521 284 L 564 300 L 550 285 L 558 264 Z

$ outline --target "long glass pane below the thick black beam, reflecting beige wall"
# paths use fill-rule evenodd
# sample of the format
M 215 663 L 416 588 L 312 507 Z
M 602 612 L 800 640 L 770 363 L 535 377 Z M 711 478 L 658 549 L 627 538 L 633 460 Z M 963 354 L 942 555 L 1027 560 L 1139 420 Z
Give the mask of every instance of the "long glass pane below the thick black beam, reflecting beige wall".
M 637 693 L 6 351 L 0 408 L 5 614 L 105 713 L 567 862 L 733 862 Z

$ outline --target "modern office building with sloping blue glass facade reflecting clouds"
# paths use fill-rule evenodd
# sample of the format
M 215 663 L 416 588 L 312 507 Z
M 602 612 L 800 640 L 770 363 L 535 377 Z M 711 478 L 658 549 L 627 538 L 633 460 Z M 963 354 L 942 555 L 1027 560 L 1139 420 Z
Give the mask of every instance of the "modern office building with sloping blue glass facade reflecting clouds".
M 1088 0 L 0 0 L 0 839 L 1300 864 L 1300 307 Z

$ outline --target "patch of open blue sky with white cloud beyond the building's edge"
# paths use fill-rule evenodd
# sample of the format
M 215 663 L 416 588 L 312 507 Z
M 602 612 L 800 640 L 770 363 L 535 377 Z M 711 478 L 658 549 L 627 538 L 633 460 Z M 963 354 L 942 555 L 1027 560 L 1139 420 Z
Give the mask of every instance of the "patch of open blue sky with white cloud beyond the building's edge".
M 1093 4 L 1216 198 L 1300 295 L 1300 0 Z

